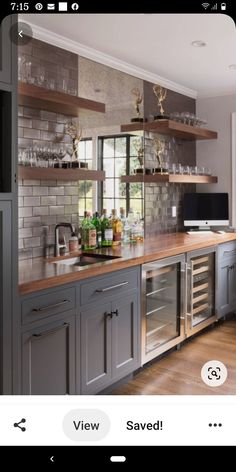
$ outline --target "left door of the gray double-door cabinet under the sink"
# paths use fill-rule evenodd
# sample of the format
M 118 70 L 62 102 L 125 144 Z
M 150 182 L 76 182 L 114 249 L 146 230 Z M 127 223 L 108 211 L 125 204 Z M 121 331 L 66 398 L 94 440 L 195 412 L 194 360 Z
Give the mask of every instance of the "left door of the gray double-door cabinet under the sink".
M 81 312 L 81 391 L 93 394 L 111 381 L 111 303 Z

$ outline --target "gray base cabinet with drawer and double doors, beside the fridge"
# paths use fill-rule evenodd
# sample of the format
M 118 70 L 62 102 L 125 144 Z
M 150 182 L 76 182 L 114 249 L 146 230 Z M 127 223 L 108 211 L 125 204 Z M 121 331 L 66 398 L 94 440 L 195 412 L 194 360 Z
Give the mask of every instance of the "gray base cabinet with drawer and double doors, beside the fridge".
M 80 285 L 81 393 L 94 394 L 140 366 L 140 267 Z

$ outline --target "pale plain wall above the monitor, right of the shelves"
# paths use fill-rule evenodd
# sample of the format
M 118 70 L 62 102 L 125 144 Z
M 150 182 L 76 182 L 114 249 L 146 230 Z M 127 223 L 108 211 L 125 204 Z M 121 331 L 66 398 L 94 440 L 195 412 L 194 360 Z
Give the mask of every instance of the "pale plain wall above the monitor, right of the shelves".
M 196 114 L 207 120 L 207 128 L 218 132 L 217 140 L 197 141 L 197 165 L 209 167 L 218 183 L 197 185 L 198 192 L 228 192 L 231 214 L 231 113 L 236 95 L 197 99 Z

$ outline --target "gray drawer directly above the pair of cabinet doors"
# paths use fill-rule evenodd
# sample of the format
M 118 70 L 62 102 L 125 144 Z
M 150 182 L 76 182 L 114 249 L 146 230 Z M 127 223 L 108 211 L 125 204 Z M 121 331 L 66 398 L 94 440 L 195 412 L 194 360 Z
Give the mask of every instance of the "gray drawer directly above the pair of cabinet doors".
M 96 277 L 81 284 L 81 305 L 103 301 L 106 298 L 121 296 L 123 293 L 137 288 L 138 269 L 123 270 L 107 275 Z

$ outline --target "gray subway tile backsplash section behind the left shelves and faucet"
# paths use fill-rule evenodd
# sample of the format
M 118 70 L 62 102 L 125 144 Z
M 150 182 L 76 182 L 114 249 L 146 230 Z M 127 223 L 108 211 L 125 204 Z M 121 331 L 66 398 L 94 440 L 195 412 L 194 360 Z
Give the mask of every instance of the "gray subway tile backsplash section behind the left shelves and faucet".
M 32 39 L 19 47 L 19 54 L 32 63 L 32 77 L 44 67 L 46 78 L 55 80 L 59 89 L 63 79 L 68 87 L 78 88 L 78 56 L 55 46 Z M 45 60 L 46 58 L 46 60 Z M 68 91 L 69 93 L 69 91 Z M 63 111 L 63 109 L 61 110 Z M 18 110 L 19 149 L 67 147 L 65 124 L 72 117 L 20 106 Z M 56 180 L 19 181 L 19 257 L 28 259 L 53 255 L 55 225 L 61 221 L 78 228 L 79 190 L 77 182 Z M 72 201 L 73 198 L 73 201 Z M 68 240 L 69 231 L 66 230 Z

